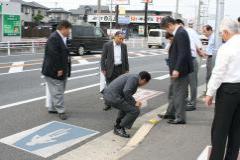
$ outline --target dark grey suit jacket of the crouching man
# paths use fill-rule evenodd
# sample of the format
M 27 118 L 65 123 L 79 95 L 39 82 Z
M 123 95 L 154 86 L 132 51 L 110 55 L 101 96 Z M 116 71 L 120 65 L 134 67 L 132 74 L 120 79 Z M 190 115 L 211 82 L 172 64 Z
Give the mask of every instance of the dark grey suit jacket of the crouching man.
M 133 95 L 138 89 L 139 76 L 135 74 L 124 74 L 116 78 L 104 89 L 103 97 L 106 103 L 122 104 L 124 101 L 135 106 Z

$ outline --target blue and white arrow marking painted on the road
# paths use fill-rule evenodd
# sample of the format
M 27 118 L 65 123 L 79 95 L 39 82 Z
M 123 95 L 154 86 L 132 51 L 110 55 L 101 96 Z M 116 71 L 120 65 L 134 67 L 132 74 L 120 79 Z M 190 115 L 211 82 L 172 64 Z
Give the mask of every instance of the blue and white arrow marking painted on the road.
M 3 138 L 0 142 L 47 158 L 98 133 L 53 121 Z

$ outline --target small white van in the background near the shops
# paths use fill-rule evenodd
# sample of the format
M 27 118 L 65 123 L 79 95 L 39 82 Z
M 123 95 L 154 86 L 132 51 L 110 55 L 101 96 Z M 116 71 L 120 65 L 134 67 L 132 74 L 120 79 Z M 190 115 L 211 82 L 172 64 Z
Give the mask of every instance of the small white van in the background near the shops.
M 166 30 L 150 29 L 147 44 L 148 48 L 151 48 L 152 46 L 165 48 L 165 46 L 167 45 Z

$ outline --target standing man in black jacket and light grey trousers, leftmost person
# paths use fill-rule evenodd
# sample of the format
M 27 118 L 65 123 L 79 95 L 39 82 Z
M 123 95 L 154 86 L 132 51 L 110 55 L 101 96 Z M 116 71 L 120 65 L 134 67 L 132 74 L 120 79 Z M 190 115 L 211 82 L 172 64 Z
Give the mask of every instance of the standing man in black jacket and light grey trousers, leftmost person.
M 64 108 L 64 92 L 67 77 L 71 72 L 71 59 L 67 48 L 67 37 L 70 35 L 72 25 L 62 21 L 57 26 L 46 44 L 42 65 L 42 74 L 45 77 L 50 93 L 49 113 L 58 113 L 62 120 L 67 119 Z

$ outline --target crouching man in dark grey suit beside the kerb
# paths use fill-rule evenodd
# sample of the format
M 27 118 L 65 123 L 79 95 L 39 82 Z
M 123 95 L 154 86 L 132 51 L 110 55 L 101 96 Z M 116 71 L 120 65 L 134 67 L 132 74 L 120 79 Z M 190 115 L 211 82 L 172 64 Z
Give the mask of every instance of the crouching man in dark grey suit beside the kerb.
M 119 110 L 114 134 L 129 138 L 125 128 L 131 129 L 140 113 L 141 102 L 134 99 L 138 87 L 146 85 L 151 80 L 151 75 L 142 71 L 138 75 L 124 74 L 115 79 L 104 90 L 103 97 L 106 105 Z

